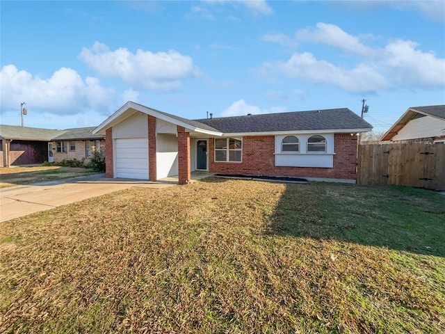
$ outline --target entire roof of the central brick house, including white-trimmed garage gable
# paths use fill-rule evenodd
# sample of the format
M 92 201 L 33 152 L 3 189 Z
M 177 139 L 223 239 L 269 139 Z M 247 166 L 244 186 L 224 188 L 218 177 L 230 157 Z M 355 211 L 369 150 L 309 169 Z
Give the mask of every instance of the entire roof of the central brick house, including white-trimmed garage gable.
M 172 122 L 193 132 L 216 136 L 223 136 L 224 134 L 308 131 L 366 132 L 372 129 L 372 125 L 369 122 L 366 122 L 347 108 L 188 120 L 129 101 L 102 122 L 93 133 L 104 134 L 106 129 L 113 127 L 113 125 L 118 124 L 137 111 Z

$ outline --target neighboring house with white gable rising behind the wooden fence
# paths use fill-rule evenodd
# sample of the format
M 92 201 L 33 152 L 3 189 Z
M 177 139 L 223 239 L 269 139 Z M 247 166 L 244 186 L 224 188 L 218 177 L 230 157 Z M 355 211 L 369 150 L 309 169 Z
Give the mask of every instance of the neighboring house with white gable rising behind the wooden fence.
M 445 105 L 412 106 L 381 140 L 445 142 Z

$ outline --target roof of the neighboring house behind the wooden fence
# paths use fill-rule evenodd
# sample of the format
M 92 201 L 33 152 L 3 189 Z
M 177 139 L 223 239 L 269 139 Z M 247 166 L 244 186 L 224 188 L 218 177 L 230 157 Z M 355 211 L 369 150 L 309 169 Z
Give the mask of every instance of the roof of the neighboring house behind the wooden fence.
M 398 132 L 415 118 L 430 116 L 439 120 L 445 120 L 445 104 L 437 106 L 412 106 L 394 123 L 394 125 L 382 136 L 382 141 L 390 141 Z

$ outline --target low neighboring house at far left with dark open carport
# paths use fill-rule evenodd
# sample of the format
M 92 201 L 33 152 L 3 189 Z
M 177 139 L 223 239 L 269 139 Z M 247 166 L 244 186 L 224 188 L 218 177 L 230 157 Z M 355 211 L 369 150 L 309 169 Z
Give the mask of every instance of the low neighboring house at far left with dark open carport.
M 95 127 L 40 129 L 0 125 L 0 166 L 41 164 L 44 161 L 88 159 L 96 147 L 105 147 L 104 136 L 92 134 Z

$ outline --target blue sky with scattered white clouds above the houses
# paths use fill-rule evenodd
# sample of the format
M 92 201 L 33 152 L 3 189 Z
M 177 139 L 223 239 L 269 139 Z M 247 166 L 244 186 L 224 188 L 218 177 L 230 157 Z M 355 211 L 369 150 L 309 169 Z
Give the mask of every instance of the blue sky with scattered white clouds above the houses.
M 445 1 L 1 1 L 1 124 L 445 104 Z

